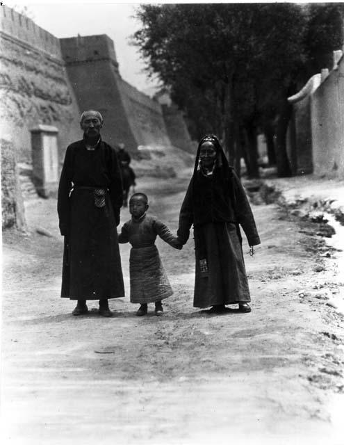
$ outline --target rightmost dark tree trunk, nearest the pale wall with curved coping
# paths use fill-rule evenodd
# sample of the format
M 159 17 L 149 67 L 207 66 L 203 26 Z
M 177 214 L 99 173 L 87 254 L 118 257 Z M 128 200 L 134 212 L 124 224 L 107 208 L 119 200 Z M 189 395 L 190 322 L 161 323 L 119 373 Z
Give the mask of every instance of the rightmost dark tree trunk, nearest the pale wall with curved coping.
M 276 163 L 279 177 L 291 176 L 290 162 L 286 152 L 286 133 L 292 110 L 291 104 L 285 99 L 281 104 L 277 121 Z

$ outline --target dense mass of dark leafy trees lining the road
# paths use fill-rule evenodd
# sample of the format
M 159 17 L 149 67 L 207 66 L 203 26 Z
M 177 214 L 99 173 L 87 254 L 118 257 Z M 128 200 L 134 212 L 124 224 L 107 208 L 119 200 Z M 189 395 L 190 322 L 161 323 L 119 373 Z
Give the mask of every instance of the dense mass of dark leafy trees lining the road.
M 218 133 L 229 162 L 238 168 L 244 156 L 248 174 L 257 177 L 256 133 L 265 131 L 271 152 L 274 131 L 277 172 L 288 176 L 287 98 L 314 74 L 316 36 L 324 54 L 343 41 L 334 33 L 338 17 L 334 5 L 144 5 L 134 41 L 199 136 Z

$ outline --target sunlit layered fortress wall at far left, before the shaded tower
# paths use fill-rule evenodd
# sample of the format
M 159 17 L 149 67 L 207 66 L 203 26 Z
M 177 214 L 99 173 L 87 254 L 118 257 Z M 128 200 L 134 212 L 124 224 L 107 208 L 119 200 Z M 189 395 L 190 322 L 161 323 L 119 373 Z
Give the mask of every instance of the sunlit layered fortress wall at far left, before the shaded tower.
M 60 41 L 6 6 L 0 8 L 0 26 L 0 131 L 10 135 L 17 161 L 30 162 L 30 129 L 54 125 L 62 160 L 81 131 Z

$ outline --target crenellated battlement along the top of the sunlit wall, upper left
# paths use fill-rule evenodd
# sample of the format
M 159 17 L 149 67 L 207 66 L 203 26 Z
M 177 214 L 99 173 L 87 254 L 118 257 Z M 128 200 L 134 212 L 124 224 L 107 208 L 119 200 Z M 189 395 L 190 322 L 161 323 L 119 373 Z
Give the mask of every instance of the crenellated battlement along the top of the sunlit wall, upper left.
M 60 40 L 8 6 L 0 8 L 0 31 L 62 60 Z

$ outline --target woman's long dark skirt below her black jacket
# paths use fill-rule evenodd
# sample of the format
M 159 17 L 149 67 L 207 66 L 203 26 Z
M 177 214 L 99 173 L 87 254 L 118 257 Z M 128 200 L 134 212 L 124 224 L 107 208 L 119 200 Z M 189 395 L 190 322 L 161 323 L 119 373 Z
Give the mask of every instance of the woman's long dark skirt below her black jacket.
M 249 302 L 249 286 L 240 230 L 233 223 L 195 227 L 196 276 L 194 307 Z M 206 259 L 208 270 L 204 270 Z

